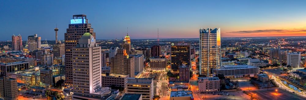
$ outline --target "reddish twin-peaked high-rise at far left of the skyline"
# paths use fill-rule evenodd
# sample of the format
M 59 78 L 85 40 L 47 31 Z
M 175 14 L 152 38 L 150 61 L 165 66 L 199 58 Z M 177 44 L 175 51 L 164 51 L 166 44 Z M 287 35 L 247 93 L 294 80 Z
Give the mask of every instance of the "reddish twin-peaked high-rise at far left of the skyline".
M 22 39 L 21 39 L 20 34 L 18 36 L 15 36 L 15 35 L 12 36 L 12 48 L 13 48 L 14 51 L 22 51 L 23 50 Z

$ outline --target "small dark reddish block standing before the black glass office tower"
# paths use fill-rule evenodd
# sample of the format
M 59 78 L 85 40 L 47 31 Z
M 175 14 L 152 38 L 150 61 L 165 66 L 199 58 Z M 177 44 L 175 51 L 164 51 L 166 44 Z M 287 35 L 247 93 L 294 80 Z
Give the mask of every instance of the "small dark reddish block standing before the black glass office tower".
M 188 81 L 190 79 L 190 72 L 189 72 L 190 66 L 179 66 L 179 78 L 180 81 Z

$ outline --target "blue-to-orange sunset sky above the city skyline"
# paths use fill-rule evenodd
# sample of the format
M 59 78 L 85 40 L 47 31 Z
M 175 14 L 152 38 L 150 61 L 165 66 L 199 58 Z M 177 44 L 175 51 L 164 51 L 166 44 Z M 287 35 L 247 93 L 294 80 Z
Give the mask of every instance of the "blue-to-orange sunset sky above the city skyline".
M 306 1 L 289 0 L 73 0 L 0 1 L 0 40 L 13 34 L 64 39 L 73 15 L 85 14 L 97 39 L 198 38 L 199 28 L 221 37 L 306 36 Z

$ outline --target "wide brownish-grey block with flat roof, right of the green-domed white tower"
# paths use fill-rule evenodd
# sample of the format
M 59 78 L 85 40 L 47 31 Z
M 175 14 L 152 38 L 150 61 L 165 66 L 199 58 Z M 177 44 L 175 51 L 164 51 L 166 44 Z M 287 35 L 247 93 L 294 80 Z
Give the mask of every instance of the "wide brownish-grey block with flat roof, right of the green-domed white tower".
M 110 73 L 103 73 L 102 75 L 102 87 L 125 87 L 125 83 L 128 81 L 129 75 L 122 75 L 122 74 L 110 74 Z

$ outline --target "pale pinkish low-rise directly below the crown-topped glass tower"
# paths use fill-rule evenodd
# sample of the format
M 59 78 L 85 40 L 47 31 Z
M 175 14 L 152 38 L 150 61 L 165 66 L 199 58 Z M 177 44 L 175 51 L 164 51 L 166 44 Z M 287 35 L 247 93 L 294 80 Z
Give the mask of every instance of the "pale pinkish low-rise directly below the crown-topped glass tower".
M 220 91 L 220 80 L 218 77 L 199 77 L 199 92 Z

